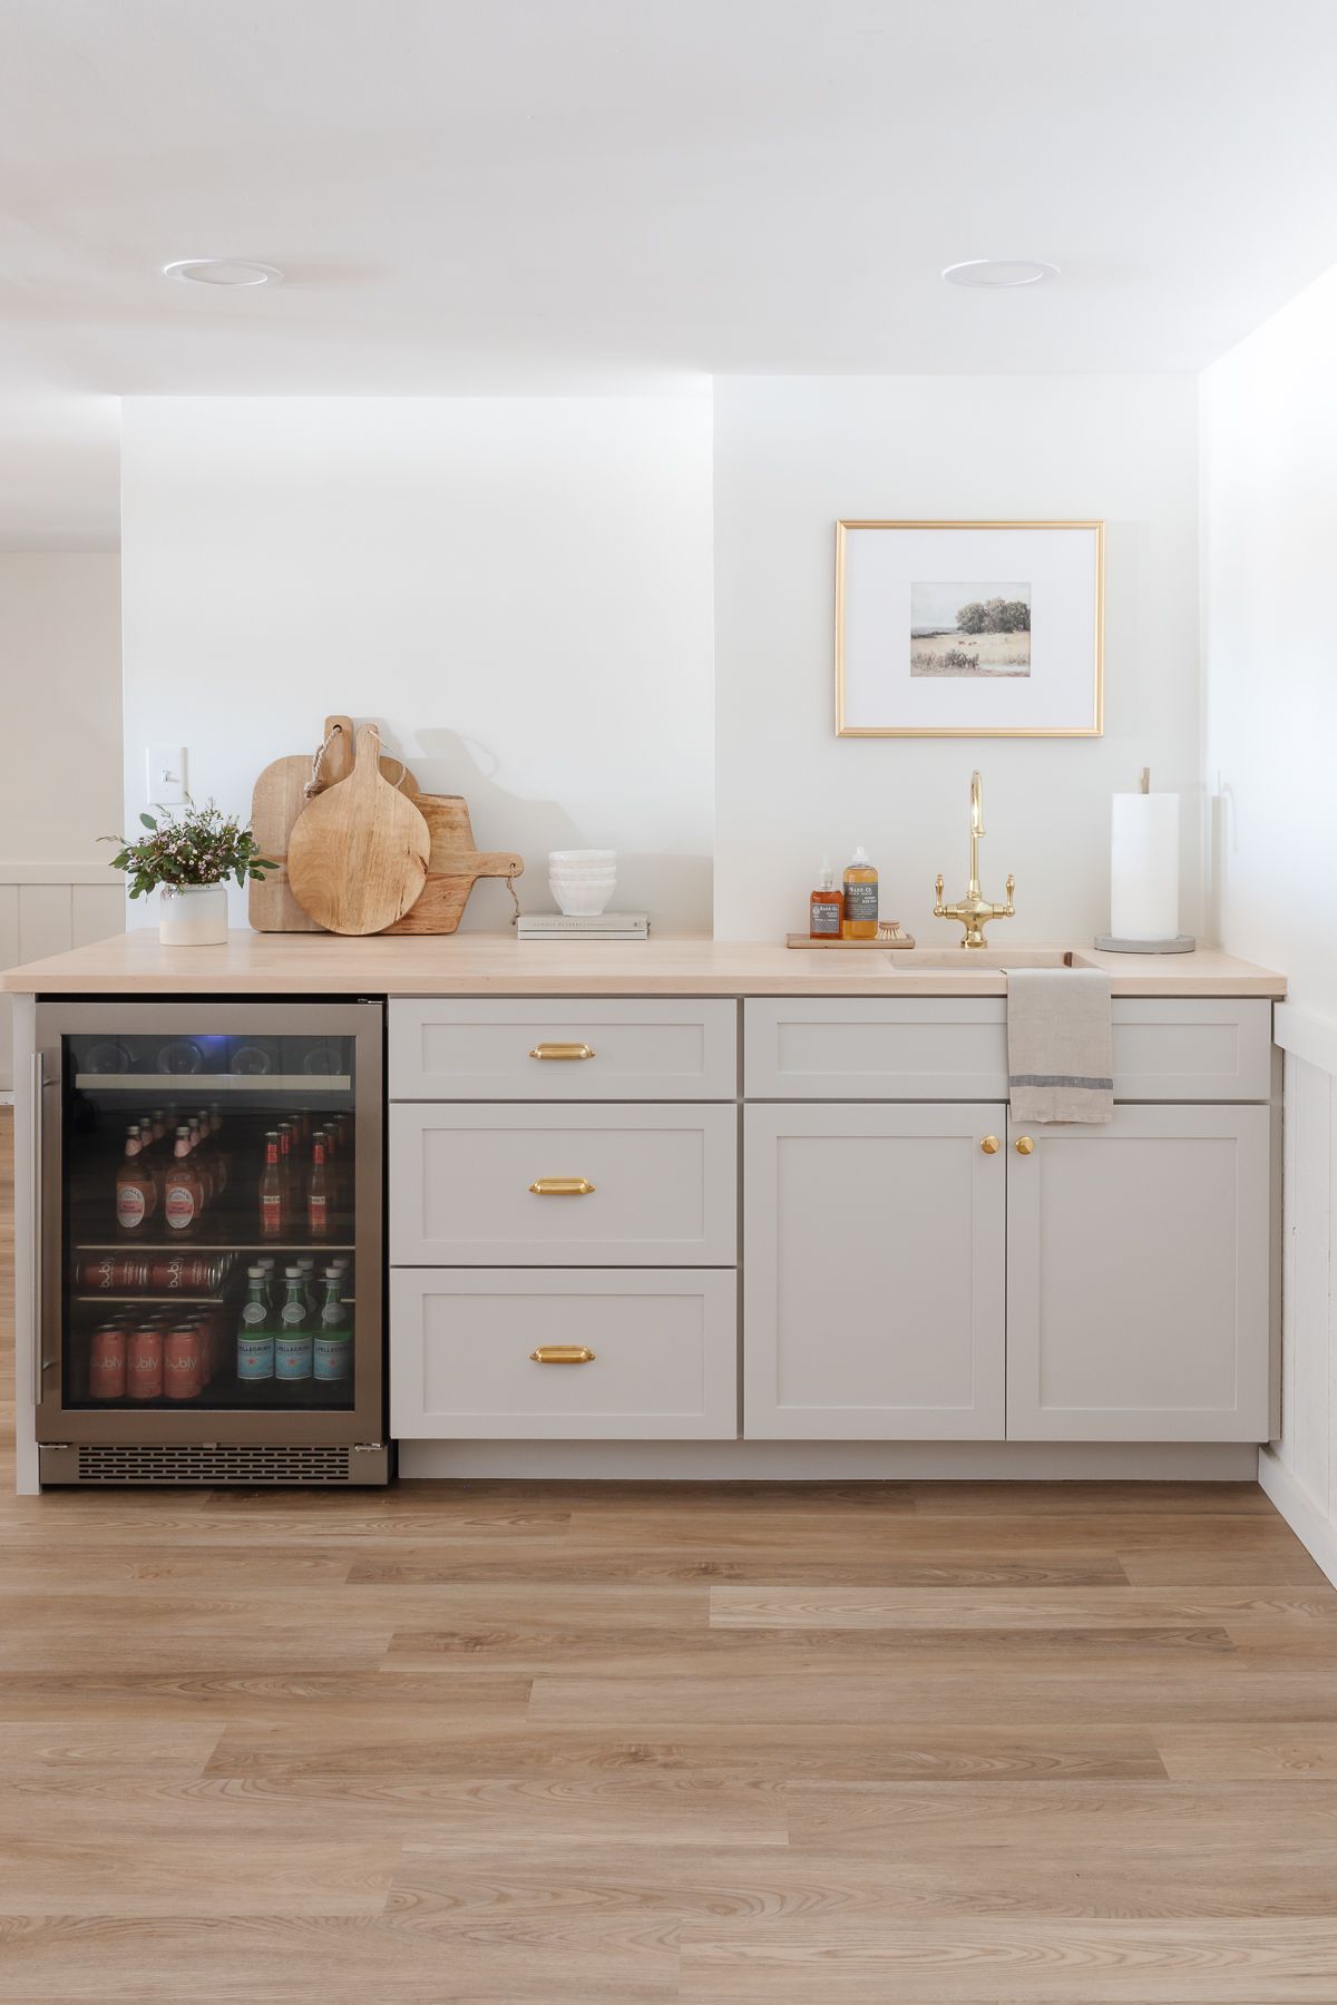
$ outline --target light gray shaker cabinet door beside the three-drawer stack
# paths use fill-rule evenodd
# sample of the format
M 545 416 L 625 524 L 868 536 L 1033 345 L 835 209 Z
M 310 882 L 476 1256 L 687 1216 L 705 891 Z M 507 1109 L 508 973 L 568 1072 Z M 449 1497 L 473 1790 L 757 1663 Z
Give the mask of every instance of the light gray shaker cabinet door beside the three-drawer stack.
M 1004 1117 L 746 1109 L 744 1434 L 1002 1440 Z

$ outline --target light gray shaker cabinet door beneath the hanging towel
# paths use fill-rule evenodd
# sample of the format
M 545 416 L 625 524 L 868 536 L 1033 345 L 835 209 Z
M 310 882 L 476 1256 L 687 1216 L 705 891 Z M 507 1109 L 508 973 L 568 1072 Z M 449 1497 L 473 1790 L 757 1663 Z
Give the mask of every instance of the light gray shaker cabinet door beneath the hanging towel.
M 1265 1442 L 1269 1109 L 1008 1137 L 1008 1438 Z

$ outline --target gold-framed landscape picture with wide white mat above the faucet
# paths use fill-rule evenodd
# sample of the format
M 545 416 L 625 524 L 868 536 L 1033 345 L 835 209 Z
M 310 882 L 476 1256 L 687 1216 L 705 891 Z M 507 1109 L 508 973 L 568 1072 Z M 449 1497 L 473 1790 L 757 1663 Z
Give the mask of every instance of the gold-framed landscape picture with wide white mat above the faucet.
M 1102 521 L 838 521 L 838 738 L 1098 738 Z

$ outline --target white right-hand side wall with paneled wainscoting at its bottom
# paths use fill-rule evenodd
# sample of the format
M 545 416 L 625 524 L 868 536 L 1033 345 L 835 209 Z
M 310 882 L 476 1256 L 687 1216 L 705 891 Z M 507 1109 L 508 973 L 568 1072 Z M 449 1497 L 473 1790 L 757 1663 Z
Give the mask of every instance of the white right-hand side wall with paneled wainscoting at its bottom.
M 1203 377 L 1203 700 L 1221 942 L 1289 976 L 1283 1438 L 1263 1480 L 1337 1572 L 1337 271 Z

